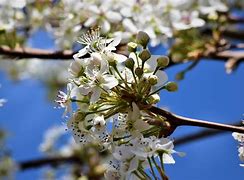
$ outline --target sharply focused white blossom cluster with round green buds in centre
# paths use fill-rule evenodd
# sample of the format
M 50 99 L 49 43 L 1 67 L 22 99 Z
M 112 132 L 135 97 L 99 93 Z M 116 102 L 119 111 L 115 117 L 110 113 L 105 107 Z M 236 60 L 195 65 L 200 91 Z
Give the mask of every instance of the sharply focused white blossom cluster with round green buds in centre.
M 59 92 L 57 103 L 71 113 L 68 128 L 81 145 L 98 143 L 101 150 L 111 151 L 107 177 L 145 176 L 144 168 L 161 157 L 163 163 L 174 163 L 173 142 L 156 138 L 164 127 L 150 121 L 164 122 L 163 117 L 150 112 L 159 102 L 159 91 L 177 90 L 174 82 L 160 70 L 169 63 L 167 57 L 152 56 L 147 49 L 149 36 L 140 31 L 136 43 L 130 42 L 128 57 L 112 52 L 119 39 L 100 37 L 92 29 L 80 38 L 85 45 L 71 63 L 72 76 L 67 94 Z M 137 51 L 139 50 L 139 51 Z M 90 57 L 84 58 L 89 54 Z M 72 107 L 76 103 L 76 111 Z M 160 156 L 159 156 L 160 154 Z M 110 179 L 108 178 L 108 179 Z

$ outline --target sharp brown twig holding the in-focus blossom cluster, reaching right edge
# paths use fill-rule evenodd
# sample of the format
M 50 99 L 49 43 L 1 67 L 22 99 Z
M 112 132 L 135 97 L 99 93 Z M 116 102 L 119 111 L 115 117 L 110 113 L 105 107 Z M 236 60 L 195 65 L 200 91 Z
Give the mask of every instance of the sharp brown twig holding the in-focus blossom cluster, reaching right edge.
M 172 134 L 175 131 L 175 129 L 179 126 L 196 126 L 196 127 L 205 127 L 205 128 L 221 130 L 221 131 L 244 133 L 243 127 L 187 118 L 187 117 L 173 114 L 171 112 L 168 112 L 166 110 L 157 107 L 151 107 L 149 110 L 155 114 L 165 117 L 166 120 L 170 123 L 171 126 L 166 136 Z

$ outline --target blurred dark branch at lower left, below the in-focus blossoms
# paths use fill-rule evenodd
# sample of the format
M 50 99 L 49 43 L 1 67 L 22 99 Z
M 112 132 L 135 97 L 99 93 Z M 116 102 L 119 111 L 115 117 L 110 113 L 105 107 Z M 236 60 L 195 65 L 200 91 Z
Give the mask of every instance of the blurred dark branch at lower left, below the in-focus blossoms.
M 30 168 L 38 168 L 45 165 L 58 166 L 60 164 L 77 163 L 80 164 L 81 160 L 76 156 L 68 157 L 45 157 L 34 160 L 22 161 L 18 163 L 20 170 L 26 170 Z

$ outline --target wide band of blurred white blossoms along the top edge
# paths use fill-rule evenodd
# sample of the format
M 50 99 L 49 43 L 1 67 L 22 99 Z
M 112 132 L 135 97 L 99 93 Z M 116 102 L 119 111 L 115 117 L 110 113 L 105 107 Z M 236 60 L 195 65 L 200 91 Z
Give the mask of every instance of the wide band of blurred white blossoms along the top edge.
M 201 27 L 205 17 L 216 17 L 227 10 L 224 0 L 3 0 L 0 29 L 33 31 L 46 27 L 62 49 L 72 48 L 81 30 L 91 27 L 100 26 L 107 37 L 121 36 L 124 43 L 143 30 L 154 46 L 175 31 Z

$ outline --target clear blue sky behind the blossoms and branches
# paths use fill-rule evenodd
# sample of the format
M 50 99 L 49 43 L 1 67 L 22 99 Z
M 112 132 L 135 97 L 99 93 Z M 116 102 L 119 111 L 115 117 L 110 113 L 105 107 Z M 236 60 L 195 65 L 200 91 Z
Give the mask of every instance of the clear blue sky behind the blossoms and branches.
M 44 40 L 45 39 L 45 40 Z M 52 41 L 39 33 L 29 42 L 35 47 L 52 47 Z M 155 54 L 162 54 L 160 48 Z M 187 64 L 167 70 L 170 80 Z M 62 123 L 62 111 L 55 110 L 47 100 L 47 90 L 38 80 L 15 83 L 0 72 L 0 97 L 8 103 L 0 109 L 0 126 L 9 130 L 8 147 L 16 160 L 38 158 L 38 145 L 43 132 L 51 125 Z M 233 123 L 241 121 L 244 113 L 244 66 L 227 75 L 223 62 L 202 61 L 179 82 L 176 93 L 161 93 L 161 107 L 167 107 L 179 115 L 215 122 Z M 198 128 L 181 127 L 173 138 L 196 132 Z M 200 140 L 179 147 L 186 153 L 176 156 L 176 164 L 166 166 L 172 180 L 243 180 L 244 168 L 239 167 L 237 142 L 231 133 Z M 40 179 L 40 170 L 17 173 L 19 180 Z

